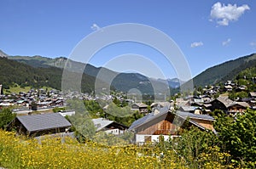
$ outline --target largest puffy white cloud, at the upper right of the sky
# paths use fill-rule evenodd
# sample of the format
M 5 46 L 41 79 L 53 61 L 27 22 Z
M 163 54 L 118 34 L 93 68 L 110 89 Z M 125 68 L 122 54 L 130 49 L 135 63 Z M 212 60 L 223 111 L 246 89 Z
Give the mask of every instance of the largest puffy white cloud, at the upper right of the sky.
M 224 5 L 218 2 L 212 5 L 210 21 L 216 20 L 218 25 L 229 25 L 230 21 L 238 20 L 249 9 L 247 4 L 238 7 L 236 4 Z

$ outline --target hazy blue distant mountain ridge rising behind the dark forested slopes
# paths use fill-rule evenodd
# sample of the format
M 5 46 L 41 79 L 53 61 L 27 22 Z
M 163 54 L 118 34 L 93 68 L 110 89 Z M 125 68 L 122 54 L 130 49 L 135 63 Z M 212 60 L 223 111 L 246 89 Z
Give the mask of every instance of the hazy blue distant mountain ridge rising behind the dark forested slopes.
M 95 78 L 100 78 L 98 75 L 99 72 L 101 72 L 101 74 L 104 76 L 114 77 L 113 81 L 110 82 L 111 86 L 123 92 L 129 92 L 129 90 L 132 88 L 136 88 L 141 93 L 166 93 L 169 91 L 165 91 L 163 88 L 177 88 L 179 87 L 180 83 L 177 78 L 162 80 L 148 78 L 147 76 L 143 76 L 138 73 L 119 73 L 113 70 L 108 70 L 104 67 L 95 67 L 90 64 L 80 63 L 64 57 L 49 59 L 42 56 L 9 56 L 8 59 L 30 65 L 34 68 L 57 67 L 63 69 L 65 66 L 67 66 L 67 70 L 71 70 L 73 72 L 83 71 L 84 74 L 93 76 Z M 102 79 L 102 81 L 104 80 Z M 109 78 L 105 79 L 105 82 L 106 81 L 109 83 Z M 152 84 L 154 84 L 154 89 Z

